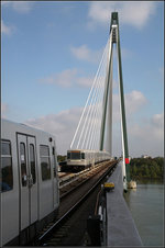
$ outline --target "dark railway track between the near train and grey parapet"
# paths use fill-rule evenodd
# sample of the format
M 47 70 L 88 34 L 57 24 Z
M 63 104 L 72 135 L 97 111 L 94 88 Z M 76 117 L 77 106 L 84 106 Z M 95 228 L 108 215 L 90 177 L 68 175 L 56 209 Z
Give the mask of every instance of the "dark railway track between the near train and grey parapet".
M 80 217 L 79 211 L 82 205 L 85 205 L 84 206 L 85 208 L 90 208 L 90 211 L 89 210 L 82 211 L 81 217 L 85 217 L 84 213 L 92 212 L 95 210 L 97 193 L 92 193 L 92 192 L 95 192 L 97 188 L 100 190 L 100 183 L 102 182 L 102 180 L 106 178 L 107 174 L 113 171 L 116 165 L 117 165 L 117 161 L 103 162 L 103 165 L 98 166 L 94 170 L 85 171 L 84 173 L 81 173 L 80 178 L 81 180 L 84 179 L 84 181 L 80 182 L 80 180 L 78 180 L 78 177 L 76 177 L 77 180 L 75 178 L 74 183 L 66 182 L 66 184 L 61 185 L 62 189 L 67 187 L 67 191 L 66 192 L 61 191 L 61 207 L 59 207 L 58 217 L 55 223 L 48 224 L 48 226 L 38 234 L 37 238 L 35 239 L 35 244 L 33 243 L 33 245 L 62 246 L 62 245 L 69 245 L 72 244 L 70 241 L 76 243 L 76 240 L 73 239 L 72 236 L 73 234 L 75 234 L 75 232 L 78 230 L 78 227 L 81 228 L 81 225 L 79 225 L 79 222 L 77 223 L 77 221 L 74 221 L 73 216 L 76 216 L 77 214 L 76 219 Z M 90 203 L 90 199 L 92 198 L 94 198 L 94 201 L 92 203 Z M 85 222 L 88 217 L 88 214 L 84 219 L 84 228 L 85 228 Z M 73 226 L 75 225 L 75 223 L 77 223 L 77 225 L 75 229 L 73 229 Z M 77 235 L 75 235 L 76 237 L 80 235 L 81 232 L 84 232 L 81 229 L 79 229 Z M 79 241 L 77 240 L 77 243 Z M 80 245 L 80 244 L 77 244 L 77 245 Z

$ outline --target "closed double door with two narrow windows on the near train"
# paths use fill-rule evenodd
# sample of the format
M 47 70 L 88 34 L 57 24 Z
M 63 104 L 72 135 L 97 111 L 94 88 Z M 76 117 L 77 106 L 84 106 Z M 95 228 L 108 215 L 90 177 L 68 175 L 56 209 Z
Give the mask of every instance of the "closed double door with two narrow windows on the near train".
M 37 173 L 35 137 L 18 134 L 20 171 L 20 228 L 37 219 Z

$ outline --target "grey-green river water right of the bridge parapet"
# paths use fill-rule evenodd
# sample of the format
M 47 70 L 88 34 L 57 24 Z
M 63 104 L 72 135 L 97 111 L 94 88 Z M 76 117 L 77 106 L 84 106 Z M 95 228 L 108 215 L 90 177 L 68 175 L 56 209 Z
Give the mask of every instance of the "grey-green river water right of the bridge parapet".
M 124 194 L 144 246 L 164 245 L 164 184 L 138 181 L 135 190 Z

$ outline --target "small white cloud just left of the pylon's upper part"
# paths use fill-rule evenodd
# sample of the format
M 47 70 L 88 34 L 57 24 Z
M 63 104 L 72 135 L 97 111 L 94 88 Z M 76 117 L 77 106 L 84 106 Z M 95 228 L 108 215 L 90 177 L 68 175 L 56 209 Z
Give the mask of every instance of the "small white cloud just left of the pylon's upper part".
M 79 47 L 72 46 L 70 50 L 76 58 L 85 61 L 91 61 L 91 63 L 98 63 L 102 54 L 102 49 L 91 50 L 87 47 L 87 45 L 81 45 Z

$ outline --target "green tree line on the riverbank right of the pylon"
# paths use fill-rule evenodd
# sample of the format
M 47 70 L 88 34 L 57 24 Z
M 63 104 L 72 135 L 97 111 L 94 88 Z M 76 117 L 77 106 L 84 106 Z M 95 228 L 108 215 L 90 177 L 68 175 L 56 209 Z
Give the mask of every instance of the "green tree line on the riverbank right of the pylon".
M 130 176 L 132 179 L 163 179 L 164 158 L 132 158 Z

